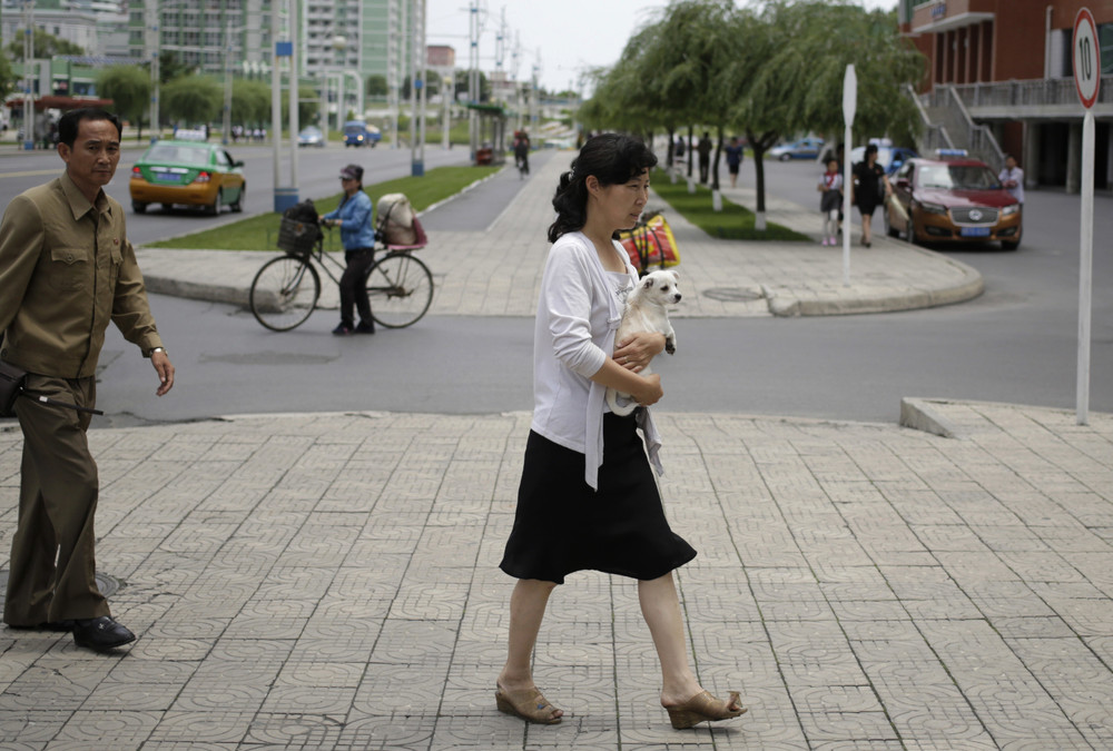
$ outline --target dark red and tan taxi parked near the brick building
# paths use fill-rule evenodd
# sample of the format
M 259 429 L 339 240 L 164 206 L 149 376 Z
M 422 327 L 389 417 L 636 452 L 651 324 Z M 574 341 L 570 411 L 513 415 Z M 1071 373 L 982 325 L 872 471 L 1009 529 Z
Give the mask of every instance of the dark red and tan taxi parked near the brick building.
M 1021 244 L 1021 205 L 984 161 L 965 156 L 909 159 L 893 179 L 885 231 L 913 243 Z

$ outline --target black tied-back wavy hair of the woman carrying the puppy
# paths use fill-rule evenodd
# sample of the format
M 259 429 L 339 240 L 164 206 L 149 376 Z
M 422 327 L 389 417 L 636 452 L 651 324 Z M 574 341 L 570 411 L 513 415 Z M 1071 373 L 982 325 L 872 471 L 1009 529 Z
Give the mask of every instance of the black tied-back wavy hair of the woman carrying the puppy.
M 553 196 L 556 220 L 549 226 L 549 241 L 583 229 L 588 221 L 589 175 L 602 186 L 622 185 L 657 166 L 657 157 L 642 141 L 619 134 L 595 136 L 580 149 L 572 169 L 560 176 Z

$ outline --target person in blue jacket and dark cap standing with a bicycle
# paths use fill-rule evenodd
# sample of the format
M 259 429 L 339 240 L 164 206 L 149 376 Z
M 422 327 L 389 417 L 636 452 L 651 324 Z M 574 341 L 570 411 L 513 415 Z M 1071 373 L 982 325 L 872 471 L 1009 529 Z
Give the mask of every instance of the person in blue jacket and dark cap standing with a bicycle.
M 374 334 L 375 320 L 371 317 L 367 298 L 367 270 L 375 263 L 375 228 L 372 225 L 374 205 L 363 190 L 363 167 L 348 165 L 341 170 L 344 198 L 336 210 L 323 214 L 322 224 L 341 228 L 344 245 L 344 274 L 341 276 L 341 323 L 333 329 L 336 336 Z M 355 323 L 354 310 L 359 313 Z

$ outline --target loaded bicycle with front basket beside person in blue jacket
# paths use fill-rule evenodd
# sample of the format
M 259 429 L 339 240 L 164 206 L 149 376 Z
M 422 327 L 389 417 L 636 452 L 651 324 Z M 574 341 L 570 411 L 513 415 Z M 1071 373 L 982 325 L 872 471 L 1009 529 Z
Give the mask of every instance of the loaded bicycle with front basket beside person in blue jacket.
M 278 247 L 286 254 L 263 265 L 252 280 L 248 304 L 256 320 L 273 332 L 297 328 L 321 299 L 319 265 L 334 284 L 339 284 L 344 264 L 325 253 L 324 235 L 315 223 L 283 217 Z M 405 328 L 421 320 L 433 303 L 433 274 L 414 250 L 429 243 L 421 223 L 414 219 L 417 238 L 413 245 L 384 244 L 386 251 L 367 270 L 367 297 L 375 323 L 386 328 Z M 382 239 L 375 233 L 376 241 Z M 316 260 L 316 264 L 313 261 Z

